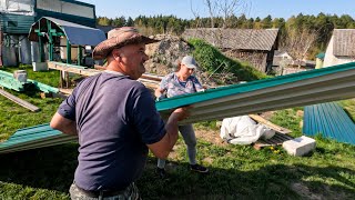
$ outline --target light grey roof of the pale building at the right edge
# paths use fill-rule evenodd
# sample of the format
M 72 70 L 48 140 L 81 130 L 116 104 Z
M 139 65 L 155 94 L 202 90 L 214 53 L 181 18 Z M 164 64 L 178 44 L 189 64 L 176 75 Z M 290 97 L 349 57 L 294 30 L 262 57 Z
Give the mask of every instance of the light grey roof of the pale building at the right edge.
M 355 29 L 334 29 L 333 40 L 334 56 L 355 56 Z

